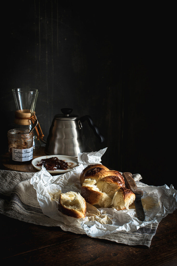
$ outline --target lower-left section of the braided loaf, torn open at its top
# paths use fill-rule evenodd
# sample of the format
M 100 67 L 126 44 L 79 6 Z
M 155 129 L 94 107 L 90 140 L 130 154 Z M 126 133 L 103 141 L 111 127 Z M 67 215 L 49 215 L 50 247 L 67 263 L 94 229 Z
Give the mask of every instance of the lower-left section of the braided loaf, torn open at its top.
M 112 198 L 103 193 L 95 185 L 96 180 L 85 179 L 81 186 L 81 196 L 91 205 L 107 208 L 111 205 Z

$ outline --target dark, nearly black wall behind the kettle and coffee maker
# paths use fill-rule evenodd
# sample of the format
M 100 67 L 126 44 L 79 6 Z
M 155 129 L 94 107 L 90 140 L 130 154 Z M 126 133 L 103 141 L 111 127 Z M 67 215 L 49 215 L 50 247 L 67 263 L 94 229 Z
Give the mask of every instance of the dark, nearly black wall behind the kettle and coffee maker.
M 90 115 L 105 142 L 83 124 L 87 151 L 102 163 L 173 184 L 174 16 L 172 6 L 16 1 L 2 6 L 2 153 L 14 125 L 13 88 L 39 91 L 36 114 L 47 138 L 60 109 Z M 172 151 L 171 151 L 172 150 Z

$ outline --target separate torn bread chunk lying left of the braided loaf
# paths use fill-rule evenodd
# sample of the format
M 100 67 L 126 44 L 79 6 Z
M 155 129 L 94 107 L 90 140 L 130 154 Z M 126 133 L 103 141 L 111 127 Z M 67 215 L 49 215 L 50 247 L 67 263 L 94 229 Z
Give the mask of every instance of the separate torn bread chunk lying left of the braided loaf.
M 87 210 L 85 199 L 80 193 L 73 191 L 62 193 L 59 198 L 58 210 L 74 218 L 85 218 Z

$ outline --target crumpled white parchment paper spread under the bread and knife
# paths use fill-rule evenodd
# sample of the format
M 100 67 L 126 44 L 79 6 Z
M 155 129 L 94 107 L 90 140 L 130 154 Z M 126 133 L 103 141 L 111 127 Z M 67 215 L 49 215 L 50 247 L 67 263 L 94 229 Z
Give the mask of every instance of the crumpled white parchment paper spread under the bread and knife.
M 170 188 L 167 185 L 156 187 L 137 182 L 137 187 L 143 190 L 144 222 L 138 220 L 134 204 L 129 210 L 117 211 L 114 208 L 97 209 L 87 203 L 86 217 L 81 219 L 69 217 L 58 211 L 60 194 L 68 191 L 81 193 L 80 173 L 89 164 L 101 163 L 101 157 L 106 149 L 79 153 L 79 165 L 62 175 L 51 176 L 44 166 L 33 175 L 31 184 L 36 189 L 37 200 L 45 215 L 66 225 L 83 228 L 87 235 L 97 237 L 118 231 L 136 231 L 150 223 L 160 222 L 177 208 L 177 191 L 173 185 Z

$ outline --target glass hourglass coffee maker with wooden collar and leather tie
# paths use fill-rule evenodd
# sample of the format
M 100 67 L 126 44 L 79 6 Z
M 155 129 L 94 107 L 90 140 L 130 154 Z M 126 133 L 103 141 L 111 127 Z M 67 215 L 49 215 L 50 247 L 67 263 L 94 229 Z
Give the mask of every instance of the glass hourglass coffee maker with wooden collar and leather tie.
M 12 89 L 12 93 L 15 100 L 16 111 L 15 111 L 15 124 L 18 128 L 30 131 L 33 124 L 37 120 L 35 113 L 36 101 L 38 96 L 37 89 Z M 43 139 L 43 133 L 39 123 L 33 130 L 33 153 L 39 151 L 41 147 L 40 139 Z

